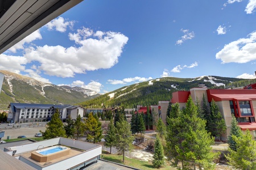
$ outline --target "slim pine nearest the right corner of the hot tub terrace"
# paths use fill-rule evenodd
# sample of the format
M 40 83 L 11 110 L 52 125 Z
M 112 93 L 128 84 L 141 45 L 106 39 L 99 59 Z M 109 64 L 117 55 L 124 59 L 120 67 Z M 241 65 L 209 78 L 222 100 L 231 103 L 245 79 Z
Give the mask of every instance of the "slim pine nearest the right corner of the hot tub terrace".
M 115 131 L 116 130 L 115 130 L 114 122 L 113 120 L 110 120 L 108 129 L 106 131 L 105 142 L 104 142 L 104 146 L 110 147 L 110 154 L 112 152 L 112 146 L 114 146 L 115 144 Z

